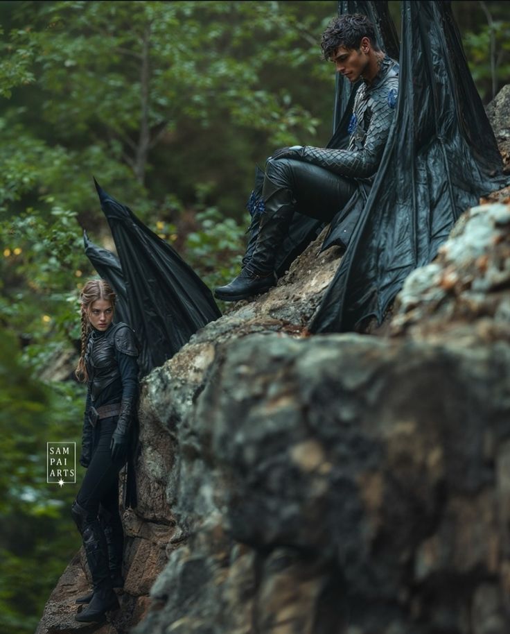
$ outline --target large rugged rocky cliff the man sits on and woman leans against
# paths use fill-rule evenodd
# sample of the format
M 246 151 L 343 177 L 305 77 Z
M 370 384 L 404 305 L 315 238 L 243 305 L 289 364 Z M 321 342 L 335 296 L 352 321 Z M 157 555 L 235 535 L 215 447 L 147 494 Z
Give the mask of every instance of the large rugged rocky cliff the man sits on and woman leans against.
M 321 238 L 143 383 L 122 609 L 100 634 L 510 631 L 510 191 L 384 334 L 308 336 Z M 74 632 L 79 553 L 38 634 Z

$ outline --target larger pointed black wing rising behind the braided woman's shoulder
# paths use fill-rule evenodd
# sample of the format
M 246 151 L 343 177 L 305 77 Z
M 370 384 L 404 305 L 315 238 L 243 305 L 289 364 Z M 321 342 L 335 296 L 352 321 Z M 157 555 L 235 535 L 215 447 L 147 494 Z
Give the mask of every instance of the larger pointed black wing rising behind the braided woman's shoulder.
M 144 376 L 173 357 L 198 329 L 221 313 L 211 291 L 191 266 L 129 207 L 109 196 L 96 180 L 94 182 L 118 253 L 127 298 L 125 321 L 141 343 L 139 366 Z M 108 259 L 108 271 L 115 270 L 118 275 L 112 262 Z M 105 260 L 103 264 L 106 266 Z M 112 286 L 117 289 L 109 273 L 105 278 L 112 280 Z

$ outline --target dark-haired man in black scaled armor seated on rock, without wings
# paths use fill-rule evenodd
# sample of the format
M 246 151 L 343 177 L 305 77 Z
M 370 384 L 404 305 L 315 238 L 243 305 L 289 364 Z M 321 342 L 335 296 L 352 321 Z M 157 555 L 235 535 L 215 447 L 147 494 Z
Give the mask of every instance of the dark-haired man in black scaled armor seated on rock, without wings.
M 256 242 L 238 277 L 216 289 L 220 300 L 243 300 L 274 286 L 276 255 L 294 212 L 330 222 L 360 182 L 373 180 L 380 164 L 396 106 L 397 62 L 379 49 L 373 25 L 360 14 L 333 19 L 321 46 L 324 59 L 351 84 L 362 80 L 349 124 L 349 147 L 292 146 L 267 160 Z

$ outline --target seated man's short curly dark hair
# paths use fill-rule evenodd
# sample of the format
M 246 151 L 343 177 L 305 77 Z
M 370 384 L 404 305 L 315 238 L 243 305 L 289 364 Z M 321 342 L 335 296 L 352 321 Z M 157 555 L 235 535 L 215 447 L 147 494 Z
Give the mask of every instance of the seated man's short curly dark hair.
M 330 60 L 339 46 L 359 49 L 362 37 L 368 37 L 374 51 L 380 51 L 376 40 L 376 30 L 366 15 L 346 13 L 331 20 L 322 33 L 321 49 L 325 60 Z

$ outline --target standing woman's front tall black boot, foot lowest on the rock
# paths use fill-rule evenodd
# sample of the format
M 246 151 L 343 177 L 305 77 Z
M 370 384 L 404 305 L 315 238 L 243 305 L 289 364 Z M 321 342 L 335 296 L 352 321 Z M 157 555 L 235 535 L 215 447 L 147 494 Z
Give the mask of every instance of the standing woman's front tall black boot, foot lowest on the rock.
M 82 534 L 83 547 L 87 556 L 94 594 L 92 599 L 82 612 L 74 619 L 80 623 L 103 622 L 106 612 L 116 610 L 118 606 L 117 595 L 109 576 L 108 549 L 105 533 L 96 518 L 94 522 L 86 523 L 87 511 L 78 502 L 74 502 L 71 508 L 73 517 Z

